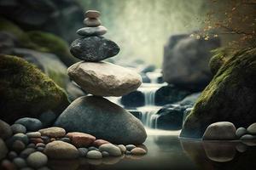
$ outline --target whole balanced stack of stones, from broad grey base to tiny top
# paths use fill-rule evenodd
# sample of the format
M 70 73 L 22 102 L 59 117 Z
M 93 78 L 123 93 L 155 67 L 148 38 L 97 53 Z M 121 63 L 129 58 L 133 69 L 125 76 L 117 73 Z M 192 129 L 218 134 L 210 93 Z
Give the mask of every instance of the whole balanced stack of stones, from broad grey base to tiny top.
M 97 139 L 106 139 L 114 144 L 142 144 L 147 134 L 142 122 L 128 111 L 102 97 L 122 96 L 135 91 L 142 77 L 108 59 L 119 53 L 119 46 L 105 37 L 100 13 L 89 10 L 85 13 L 85 27 L 77 33 L 81 36 L 71 44 L 74 57 L 82 59 L 71 65 L 67 72 L 74 82 L 92 96 L 81 97 L 59 116 L 56 126 L 67 132 L 90 133 Z

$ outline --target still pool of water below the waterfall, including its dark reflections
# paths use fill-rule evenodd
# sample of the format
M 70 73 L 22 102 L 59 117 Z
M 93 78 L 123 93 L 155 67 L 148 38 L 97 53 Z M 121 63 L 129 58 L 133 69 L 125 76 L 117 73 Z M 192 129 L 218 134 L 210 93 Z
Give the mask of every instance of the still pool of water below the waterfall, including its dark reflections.
M 78 159 L 49 161 L 53 170 L 114 169 L 256 169 L 256 141 L 201 141 L 178 139 L 180 131 L 148 130 L 146 156 L 104 157 L 102 160 Z

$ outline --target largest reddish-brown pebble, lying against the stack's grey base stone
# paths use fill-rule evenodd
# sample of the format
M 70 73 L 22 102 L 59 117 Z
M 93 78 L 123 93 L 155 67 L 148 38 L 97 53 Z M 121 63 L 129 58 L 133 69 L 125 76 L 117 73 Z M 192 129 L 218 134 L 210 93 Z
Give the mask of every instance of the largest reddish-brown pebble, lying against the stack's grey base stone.
M 71 139 L 71 144 L 78 148 L 87 147 L 96 140 L 96 137 L 87 133 L 67 133 L 67 137 Z

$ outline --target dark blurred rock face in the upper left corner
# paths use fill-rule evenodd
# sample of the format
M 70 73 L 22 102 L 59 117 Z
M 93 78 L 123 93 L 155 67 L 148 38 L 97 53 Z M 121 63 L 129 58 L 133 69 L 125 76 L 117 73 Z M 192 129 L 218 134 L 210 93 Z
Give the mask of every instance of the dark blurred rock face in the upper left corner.
M 84 20 L 83 8 L 78 2 L 49 0 L 20 3 L 14 1 L 12 5 L 8 5 L 9 0 L 2 2 L 1 14 L 18 23 L 24 30 L 49 31 L 71 42 L 76 37 L 75 31 L 83 26 L 81 22 Z

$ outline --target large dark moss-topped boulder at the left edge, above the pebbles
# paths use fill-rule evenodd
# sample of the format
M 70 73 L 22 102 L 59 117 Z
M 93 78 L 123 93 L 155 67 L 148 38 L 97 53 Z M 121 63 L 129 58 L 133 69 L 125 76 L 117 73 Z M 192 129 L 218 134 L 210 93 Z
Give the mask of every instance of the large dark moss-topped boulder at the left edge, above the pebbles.
M 24 59 L 0 55 L 0 118 L 14 122 L 23 116 L 67 105 L 67 95 L 49 77 Z

